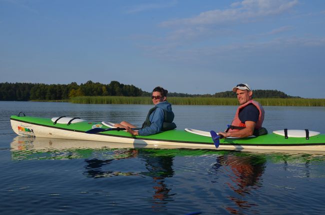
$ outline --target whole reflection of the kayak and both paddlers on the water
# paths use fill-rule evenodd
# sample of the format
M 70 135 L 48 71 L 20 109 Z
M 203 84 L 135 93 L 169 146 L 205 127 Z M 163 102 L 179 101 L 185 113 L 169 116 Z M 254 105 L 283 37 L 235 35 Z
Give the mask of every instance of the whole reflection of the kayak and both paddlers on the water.
M 140 145 L 141 146 L 141 145 Z M 143 146 L 143 145 L 142 145 Z M 97 179 L 127 176 L 129 180 L 147 183 L 149 193 L 147 199 L 155 211 L 163 211 L 169 202 L 177 199 L 181 193 L 173 189 L 176 182 L 188 182 L 188 172 L 176 169 L 187 169 L 193 175 L 204 175 L 210 179 L 208 186 L 218 190 L 223 199 L 220 203 L 229 213 L 246 214 L 258 213 L 263 205 L 255 200 L 256 193 L 265 186 L 263 176 L 266 166 L 276 163 L 277 169 L 269 171 L 290 172 L 292 177 L 325 177 L 323 171 L 314 168 L 315 163 L 323 164 L 323 154 L 310 153 L 252 153 L 198 149 L 155 149 L 134 147 L 132 144 L 113 144 L 109 147 L 105 142 L 64 140 L 50 138 L 29 138 L 17 136 L 10 144 L 11 159 L 13 160 L 41 160 L 41 159 L 79 159 L 83 177 Z M 187 167 L 183 157 L 192 156 L 200 162 L 191 162 Z M 177 158 L 177 159 L 176 159 Z M 177 162 L 176 162 L 176 161 Z M 210 166 L 201 168 L 202 166 Z M 318 171 L 318 172 L 317 172 Z M 279 175 L 280 173 L 276 172 Z M 186 176 L 187 175 L 187 176 Z M 272 175 L 268 173 L 268 175 Z M 201 179 L 202 179 L 201 178 Z M 277 177 L 279 178 L 279 177 Z M 121 178 L 122 179 L 122 178 Z M 274 181 L 273 186 L 285 186 L 282 181 Z M 205 183 L 198 181 L 199 183 Z M 134 188 L 138 185 L 134 185 Z M 204 184 L 198 185 L 204 188 Z M 196 192 L 197 187 L 184 187 L 185 192 Z M 122 187 L 121 187 L 122 188 Z M 147 191 L 147 190 L 146 190 Z M 213 192 L 212 195 L 218 193 Z M 204 195 L 204 194 L 202 194 Z M 267 198 L 267 197 L 266 197 Z M 200 199 L 200 197 L 198 198 Z M 206 199 L 207 201 L 210 199 Z M 192 202 L 194 203 L 194 202 Z M 204 204 L 200 202 L 200 204 Z M 203 209 L 203 208 L 202 208 Z

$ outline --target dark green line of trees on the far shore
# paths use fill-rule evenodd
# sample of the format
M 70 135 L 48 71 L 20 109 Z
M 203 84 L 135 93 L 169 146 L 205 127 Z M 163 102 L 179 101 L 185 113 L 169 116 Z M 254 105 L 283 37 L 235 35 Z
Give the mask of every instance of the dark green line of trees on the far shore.
M 110 81 L 109 84 L 92 82 L 88 80 L 78 85 L 76 82 L 69 84 L 44 84 L 44 83 L 0 83 L 0 100 L 64 100 L 76 96 L 150 96 L 151 92 L 142 91 L 134 85 Z M 235 97 L 232 91 L 216 92 L 214 94 L 188 94 L 169 92 L 169 97 Z M 284 92 L 270 89 L 256 89 L 255 98 L 297 98 Z

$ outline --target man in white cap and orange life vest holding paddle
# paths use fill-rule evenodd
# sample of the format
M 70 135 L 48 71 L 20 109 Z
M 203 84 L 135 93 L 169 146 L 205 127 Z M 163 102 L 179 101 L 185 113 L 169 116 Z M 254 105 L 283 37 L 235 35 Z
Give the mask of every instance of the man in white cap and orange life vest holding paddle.
M 237 94 L 240 105 L 231 125 L 225 131 L 219 132 L 219 134 L 224 137 L 242 138 L 267 133 L 265 128 L 263 128 L 263 132 L 259 132 L 264 120 L 264 109 L 257 101 L 252 99 L 253 91 L 250 86 L 247 83 L 239 83 L 232 88 L 232 91 Z

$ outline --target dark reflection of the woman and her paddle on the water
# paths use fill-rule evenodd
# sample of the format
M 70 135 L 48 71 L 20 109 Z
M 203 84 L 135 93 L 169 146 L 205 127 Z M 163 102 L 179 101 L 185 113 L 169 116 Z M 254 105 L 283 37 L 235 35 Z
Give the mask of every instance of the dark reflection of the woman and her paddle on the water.
M 170 200 L 172 194 L 169 194 L 171 188 L 165 184 L 166 177 L 172 177 L 174 175 L 173 155 L 168 156 L 156 156 L 156 150 L 151 149 L 118 149 L 114 150 L 114 158 L 110 159 L 85 159 L 86 165 L 84 166 L 86 171 L 84 175 L 87 177 L 112 177 L 112 176 L 148 176 L 152 178 L 153 201 L 152 207 L 155 210 L 159 210 L 160 207 L 164 207 L 165 201 Z M 113 171 L 110 170 L 112 162 L 125 158 L 136 158 L 145 161 L 145 168 L 147 171 Z M 113 168 L 116 169 L 118 164 L 114 164 Z

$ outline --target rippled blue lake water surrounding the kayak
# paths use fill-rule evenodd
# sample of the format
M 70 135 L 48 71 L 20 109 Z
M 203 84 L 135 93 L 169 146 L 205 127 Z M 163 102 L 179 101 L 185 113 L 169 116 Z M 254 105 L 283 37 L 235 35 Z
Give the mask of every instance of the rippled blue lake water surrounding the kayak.
M 9 121 L 23 111 L 140 125 L 150 107 L 0 101 L 0 214 L 325 213 L 324 153 L 111 148 L 18 137 Z M 177 129 L 219 131 L 236 106 L 172 108 Z M 269 132 L 325 133 L 324 107 L 264 108 Z

